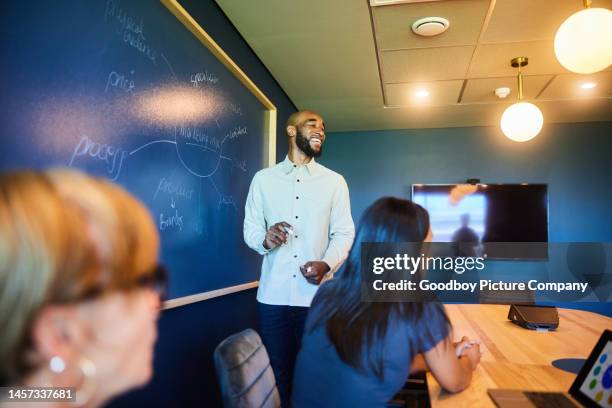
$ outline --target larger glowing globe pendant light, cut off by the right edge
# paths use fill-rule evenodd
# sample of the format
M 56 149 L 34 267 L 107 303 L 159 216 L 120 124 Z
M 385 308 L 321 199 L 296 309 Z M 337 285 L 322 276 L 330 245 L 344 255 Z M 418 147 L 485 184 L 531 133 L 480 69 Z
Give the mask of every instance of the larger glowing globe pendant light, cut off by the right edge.
M 561 24 L 555 35 L 555 55 L 564 68 L 578 74 L 592 74 L 612 64 L 612 11 L 584 9 Z

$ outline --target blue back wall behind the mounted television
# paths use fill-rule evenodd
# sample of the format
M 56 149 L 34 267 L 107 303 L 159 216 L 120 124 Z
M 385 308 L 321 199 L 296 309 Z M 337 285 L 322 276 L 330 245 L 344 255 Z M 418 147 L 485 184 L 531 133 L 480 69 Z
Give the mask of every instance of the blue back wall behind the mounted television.
M 497 127 L 329 133 L 321 161 L 346 178 L 355 221 L 382 196 L 410 198 L 413 183 L 547 183 L 550 242 L 612 242 L 612 122 L 547 124 L 527 143 Z M 502 261 L 487 272 L 549 273 L 542 262 Z M 610 303 L 558 304 L 612 316 Z

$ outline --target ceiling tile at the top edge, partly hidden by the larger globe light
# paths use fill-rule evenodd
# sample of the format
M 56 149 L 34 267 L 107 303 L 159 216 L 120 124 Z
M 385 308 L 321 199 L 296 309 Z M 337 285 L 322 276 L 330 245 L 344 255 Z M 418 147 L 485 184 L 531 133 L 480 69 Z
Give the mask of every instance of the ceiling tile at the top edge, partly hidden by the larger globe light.
M 592 7 L 610 9 L 612 0 L 594 0 Z M 497 0 L 482 43 L 552 40 L 581 9 L 580 0 Z

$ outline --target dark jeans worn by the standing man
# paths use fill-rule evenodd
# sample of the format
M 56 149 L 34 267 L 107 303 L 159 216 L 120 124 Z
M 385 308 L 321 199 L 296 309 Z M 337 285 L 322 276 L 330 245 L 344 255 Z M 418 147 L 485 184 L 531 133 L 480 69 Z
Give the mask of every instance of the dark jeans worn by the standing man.
M 257 302 L 259 334 L 270 356 L 283 407 L 289 407 L 295 358 L 302 344 L 307 307 Z

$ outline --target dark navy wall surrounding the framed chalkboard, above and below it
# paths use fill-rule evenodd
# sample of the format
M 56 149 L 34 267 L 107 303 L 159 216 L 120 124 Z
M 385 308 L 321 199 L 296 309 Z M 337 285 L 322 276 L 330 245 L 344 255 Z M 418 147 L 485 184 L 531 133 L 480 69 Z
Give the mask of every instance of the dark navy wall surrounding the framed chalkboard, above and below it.
M 276 105 L 277 157 L 282 160 L 287 152 L 284 122 L 296 110 L 293 102 L 214 1 L 180 3 Z M 252 289 L 162 312 L 152 382 L 110 406 L 221 406 L 213 351 L 230 334 L 256 327 L 255 295 Z

